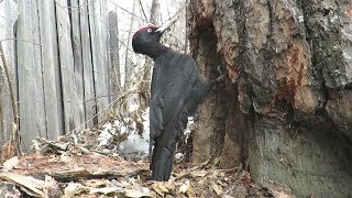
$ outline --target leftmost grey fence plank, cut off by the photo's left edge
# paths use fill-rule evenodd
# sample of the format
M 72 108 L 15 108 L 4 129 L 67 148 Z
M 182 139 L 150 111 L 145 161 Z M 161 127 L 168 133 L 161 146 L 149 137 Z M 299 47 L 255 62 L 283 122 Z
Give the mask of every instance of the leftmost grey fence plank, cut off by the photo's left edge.
M 15 35 L 14 26 L 19 16 L 18 4 L 13 1 L 4 0 L 0 3 L 0 13 L 6 16 L 0 19 L 0 26 L 2 29 L 0 31 L 0 43 L 3 47 L 3 52 L 0 55 L 0 145 L 3 145 L 3 143 L 11 139 L 13 124 L 18 122 L 14 122 L 14 120 L 18 120 L 15 118 L 18 107 L 13 106 L 13 100 L 18 100 L 18 92 L 15 80 L 15 40 L 12 40 Z M 9 68 L 6 68 L 6 65 Z

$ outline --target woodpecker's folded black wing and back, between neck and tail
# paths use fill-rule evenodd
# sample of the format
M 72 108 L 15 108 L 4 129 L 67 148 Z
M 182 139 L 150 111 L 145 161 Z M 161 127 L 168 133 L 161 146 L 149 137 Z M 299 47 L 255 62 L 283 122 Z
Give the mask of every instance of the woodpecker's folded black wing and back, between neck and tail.
M 151 99 L 151 125 L 156 127 L 151 129 L 153 139 L 178 119 L 196 79 L 196 64 L 188 55 L 167 53 L 155 61 Z

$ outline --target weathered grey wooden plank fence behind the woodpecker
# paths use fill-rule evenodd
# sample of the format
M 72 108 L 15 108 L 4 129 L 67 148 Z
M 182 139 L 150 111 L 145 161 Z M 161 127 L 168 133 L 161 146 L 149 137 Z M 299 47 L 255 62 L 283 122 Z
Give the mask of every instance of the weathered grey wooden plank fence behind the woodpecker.
M 105 0 L 0 1 L 0 145 L 12 133 L 11 84 L 24 147 L 103 119 L 113 100 L 107 22 Z

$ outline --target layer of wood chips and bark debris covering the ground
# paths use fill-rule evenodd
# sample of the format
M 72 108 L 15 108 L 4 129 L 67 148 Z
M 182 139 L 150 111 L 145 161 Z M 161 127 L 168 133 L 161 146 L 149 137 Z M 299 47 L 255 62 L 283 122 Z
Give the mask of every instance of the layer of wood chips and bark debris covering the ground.
M 4 162 L 0 190 L 10 197 L 54 198 L 294 197 L 288 187 L 275 183 L 256 186 L 242 167 L 218 169 L 216 156 L 194 167 L 176 164 L 168 182 L 152 182 L 147 162 L 128 161 L 111 150 L 74 140 L 40 139 L 32 154 Z

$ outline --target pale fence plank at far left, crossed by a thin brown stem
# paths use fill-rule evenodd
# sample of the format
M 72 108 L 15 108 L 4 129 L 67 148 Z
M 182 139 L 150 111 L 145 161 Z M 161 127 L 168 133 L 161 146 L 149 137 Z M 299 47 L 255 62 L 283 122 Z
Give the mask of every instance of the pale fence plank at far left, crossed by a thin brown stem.
M 4 57 L 10 66 L 13 85 L 15 85 L 14 76 L 14 32 L 13 25 L 19 16 L 18 6 L 13 0 L 4 0 L 0 3 L 0 41 L 2 48 L 4 51 Z M 13 113 L 12 113 L 12 103 L 10 99 L 10 90 L 8 78 L 4 73 L 2 59 L 0 58 L 0 145 L 10 139 L 12 134 L 12 123 L 13 123 Z M 16 90 L 14 90 L 16 92 Z M 16 98 L 16 96 L 14 96 Z

